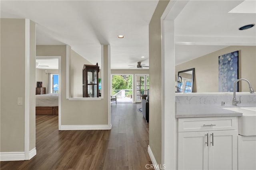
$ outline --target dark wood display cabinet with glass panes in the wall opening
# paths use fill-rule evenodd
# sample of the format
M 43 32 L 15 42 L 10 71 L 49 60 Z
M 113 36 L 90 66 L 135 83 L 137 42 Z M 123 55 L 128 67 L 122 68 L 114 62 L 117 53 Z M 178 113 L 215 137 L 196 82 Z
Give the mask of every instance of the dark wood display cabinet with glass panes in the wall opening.
M 96 65 L 84 64 L 83 68 L 83 97 L 99 97 L 99 72 L 100 67 Z

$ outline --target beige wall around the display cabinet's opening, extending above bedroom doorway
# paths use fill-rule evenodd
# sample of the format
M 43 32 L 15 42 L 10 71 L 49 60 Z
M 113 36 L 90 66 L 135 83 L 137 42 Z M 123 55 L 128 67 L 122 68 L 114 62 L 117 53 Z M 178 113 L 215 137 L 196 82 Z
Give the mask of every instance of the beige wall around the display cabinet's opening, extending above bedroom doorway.
M 66 98 L 66 53 L 71 56 L 71 47 L 66 45 L 37 45 L 37 56 L 61 56 L 61 123 L 68 127 L 80 125 L 108 125 L 108 46 L 104 45 L 104 99 L 101 100 L 69 100 Z M 68 49 L 67 49 L 68 48 Z M 106 54 L 105 54 L 106 53 Z M 70 59 L 68 59 L 70 61 Z M 71 67 L 71 64 L 70 66 Z M 80 68 L 79 68 L 80 69 Z M 71 74 L 72 68 L 69 70 Z M 82 68 L 81 68 L 82 70 Z M 71 75 L 69 76 L 71 79 Z M 82 79 L 82 77 L 81 77 Z M 69 86 L 71 82 L 68 82 Z M 70 90 L 71 91 L 71 90 Z M 97 126 L 98 127 L 98 126 Z

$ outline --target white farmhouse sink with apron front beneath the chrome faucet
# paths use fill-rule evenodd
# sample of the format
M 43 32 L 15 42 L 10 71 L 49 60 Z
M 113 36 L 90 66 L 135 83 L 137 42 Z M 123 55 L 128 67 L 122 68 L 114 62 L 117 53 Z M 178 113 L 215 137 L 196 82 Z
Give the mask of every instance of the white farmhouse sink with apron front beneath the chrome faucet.
M 256 107 L 223 108 L 243 113 L 238 117 L 238 133 L 243 136 L 256 136 Z

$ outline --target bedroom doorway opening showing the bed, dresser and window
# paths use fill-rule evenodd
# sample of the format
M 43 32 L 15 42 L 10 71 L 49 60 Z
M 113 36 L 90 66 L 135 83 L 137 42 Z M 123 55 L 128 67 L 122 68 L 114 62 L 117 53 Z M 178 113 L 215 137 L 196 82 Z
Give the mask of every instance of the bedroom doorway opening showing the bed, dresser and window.
M 59 115 L 60 57 L 36 57 L 36 115 Z

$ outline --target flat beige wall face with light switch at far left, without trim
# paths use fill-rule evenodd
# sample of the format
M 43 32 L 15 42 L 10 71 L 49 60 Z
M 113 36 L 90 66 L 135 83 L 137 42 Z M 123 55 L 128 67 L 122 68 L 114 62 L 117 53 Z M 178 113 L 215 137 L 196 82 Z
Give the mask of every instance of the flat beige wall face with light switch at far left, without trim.
M 24 151 L 24 80 L 25 20 L 1 19 L 1 152 Z

